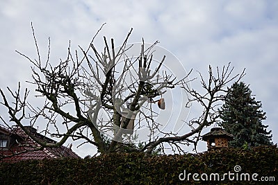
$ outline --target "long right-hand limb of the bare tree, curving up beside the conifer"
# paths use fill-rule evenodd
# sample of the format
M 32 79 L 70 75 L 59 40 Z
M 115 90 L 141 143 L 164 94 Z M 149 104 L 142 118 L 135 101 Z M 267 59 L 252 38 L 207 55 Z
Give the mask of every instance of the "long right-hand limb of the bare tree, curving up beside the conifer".
M 195 146 L 195 150 L 197 151 L 197 143 L 200 139 L 201 131 L 204 127 L 208 127 L 213 123 L 218 122 L 219 118 L 219 105 L 221 105 L 224 100 L 224 94 L 227 93 L 225 87 L 229 82 L 234 80 L 240 80 L 245 76 L 245 69 L 242 73 L 232 75 L 234 71 L 234 67 L 230 67 L 230 63 L 227 67 L 222 67 L 222 69 L 216 68 L 216 73 L 213 73 L 213 69 L 209 66 L 208 69 L 208 82 L 204 80 L 201 73 L 199 73 L 199 77 L 201 78 L 202 89 L 204 93 L 201 94 L 199 91 L 188 86 L 188 83 L 181 83 L 181 88 L 183 88 L 188 95 L 190 95 L 190 99 L 188 100 L 188 106 L 191 103 L 197 102 L 201 105 L 203 111 L 202 114 L 198 118 L 193 118 L 188 121 L 187 125 L 190 127 L 190 132 L 186 134 L 176 134 L 174 136 L 166 136 L 156 141 L 148 143 L 145 148 L 147 148 L 147 153 L 152 152 L 153 148 L 160 143 L 172 143 L 177 146 L 177 150 L 182 151 L 182 148 L 178 146 L 176 143 L 180 143 L 181 141 L 187 141 L 189 143 L 193 143 Z M 193 79 L 193 80 L 196 80 Z M 192 138 L 193 136 L 193 138 Z M 190 139 L 191 138 L 191 139 Z

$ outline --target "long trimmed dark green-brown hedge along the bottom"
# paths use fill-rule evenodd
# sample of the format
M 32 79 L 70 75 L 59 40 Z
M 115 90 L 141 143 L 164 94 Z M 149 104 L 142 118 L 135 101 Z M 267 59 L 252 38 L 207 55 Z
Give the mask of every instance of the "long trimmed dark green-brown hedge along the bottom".
M 241 173 L 259 174 L 254 181 L 236 181 L 234 166 Z M 181 181 L 186 170 L 198 173 L 200 181 Z M 202 181 L 206 173 L 235 173 L 234 181 Z M 183 177 L 183 174 L 181 175 Z M 204 176 L 205 177 L 205 176 Z M 275 182 L 259 182 L 275 177 Z M 111 154 L 90 159 L 45 159 L 0 164 L 0 184 L 278 184 L 278 148 L 261 146 L 251 150 L 224 149 L 199 154 L 162 155 L 145 158 L 143 154 Z

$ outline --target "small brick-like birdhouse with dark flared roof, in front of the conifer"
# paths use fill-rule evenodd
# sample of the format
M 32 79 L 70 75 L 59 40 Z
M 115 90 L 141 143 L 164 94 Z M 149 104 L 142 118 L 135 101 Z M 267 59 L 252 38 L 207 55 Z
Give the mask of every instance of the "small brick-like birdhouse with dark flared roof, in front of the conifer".
M 221 127 L 213 127 L 211 132 L 202 136 L 202 139 L 206 141 L 208 150 L 215 150 L 229 148 L 228 142 L 234 139 L 234 136 L 225 132 Z

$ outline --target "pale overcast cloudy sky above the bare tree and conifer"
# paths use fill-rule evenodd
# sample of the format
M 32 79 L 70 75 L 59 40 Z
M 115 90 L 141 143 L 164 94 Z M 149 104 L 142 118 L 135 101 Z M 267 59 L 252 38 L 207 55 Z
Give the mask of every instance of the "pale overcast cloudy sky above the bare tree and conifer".
M 104 22 L 101 36 L 120 44 L 133 28 L 130 42 L 160 41 L 186 70 L 207 73 L 208 65 L 231 62 L 235 73 L 246 68 L 243 81 L 261 100 L 278 141 L 278 1 L 1 1 L 0 87 L 16 89 L 30 79 L 31 64 L 15 53 L 35 58 L 31 21 L 42 57 L 51 38 L 51 60 L 72 48 L 88 47 Z M 192 84 L 194 87 L 194 83 Z M 3 109 L 2 109 L 3 110 Z M 1 113 L 2 114 L 2 113 Z M 205 146 L 204 142 L 201 146 Z M 205 147 L 204 147 L 205 148 Z M 203 149 L 204 149 L 203 148 Z M 74 149 L 75 150 L 75 149 Z M 202 150 L 202 149 L 201 149 Z M 79 155 L 84 156 L 80 150 Z M 87 155 L 90 155 L 90 153 Z

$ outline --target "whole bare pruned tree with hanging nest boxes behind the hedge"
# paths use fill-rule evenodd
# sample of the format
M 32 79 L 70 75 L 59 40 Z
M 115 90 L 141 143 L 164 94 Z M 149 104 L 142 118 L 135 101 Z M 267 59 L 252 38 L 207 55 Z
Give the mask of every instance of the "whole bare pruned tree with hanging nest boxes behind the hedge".
M 98 31 L 87 50 L 79 47 L 81 58 L 77 51 L 73 54 L 69 46 L 67 59 L 53 66 L 49 62 L 50 39 L 47 61 L 43 62 L 33 30 L 38 58 L 32 60 L 19 51 L 17 53 L 31 62 L 33 81 L 30 83 L 35 85 L 37 97 L 44 100 L 44 105 L 35 107 L 28 103 L 29 91 L 25 89 L 22 96 L 20 84 L 15 92 L 8 88 L 13 102 L 8 101 L 2 89 L 0 92 L 3 98 L 1 104 L 8 109 L 10 121 L 38 143 L 38 150 L 62 146 L 67 139 L 72 138 L 96 146 L 101 153 L 138 151 L 150 155 L 155 148 L 164 148 L 165 143 L 173 150 L 183 152 L 183 145 L 194 143 L 197 146 L 202 129 L 217 121 L 218 110 L 215 107 L 224 98 L 224 87 L 233 80 L 243 78 L 244 71 L 233 76 L 234 68 L 228 65 L 221 70 L 217 68 L 214 74 L 209 67 L 208 83 L 200 74 L 206 93 L 199 94 L 189 85 L 192 80 L 188 80 L 188 76 L 192 70 L 177 79 L 163 71 L 165 55 L 161 56 L 160 62 L 154 62 L 154 47 L 158 42 L 147 46 L 142 40 L 138 55 L 128 55 L 133 46 L 128 44 L 131 31 L 119 47 L 115 47 L 114 39 L 108 42 L 104 37 L 102 52 L 94 44 Z M 186 134 L 164 132 L 159 128 L 161 123 L 155 119 L 158 113 L 153 108 L 154 103 L 158 103 L 161 109 L 165 108 L 161 96 L 174 87 L 187 92 L 190 97 L 188 105 L 197 101 L 204 108 L 199 118 L 186 123 L 190 128 Z M 6 127 L 10 127 L 3 117 L 1 120 Z M 42 125 L 44 121 L 42 133 L 56 137 L 58 142 L 46 143 L 29 134 L 24 127 L 26 121 L 31 127 L 38 122 Z M 138 136 L 136 130 L 143 125 L 148 128 L 148 139 L 136 146 L 133 143 Z M 108 137 L 109 133 L 111 138 Z

